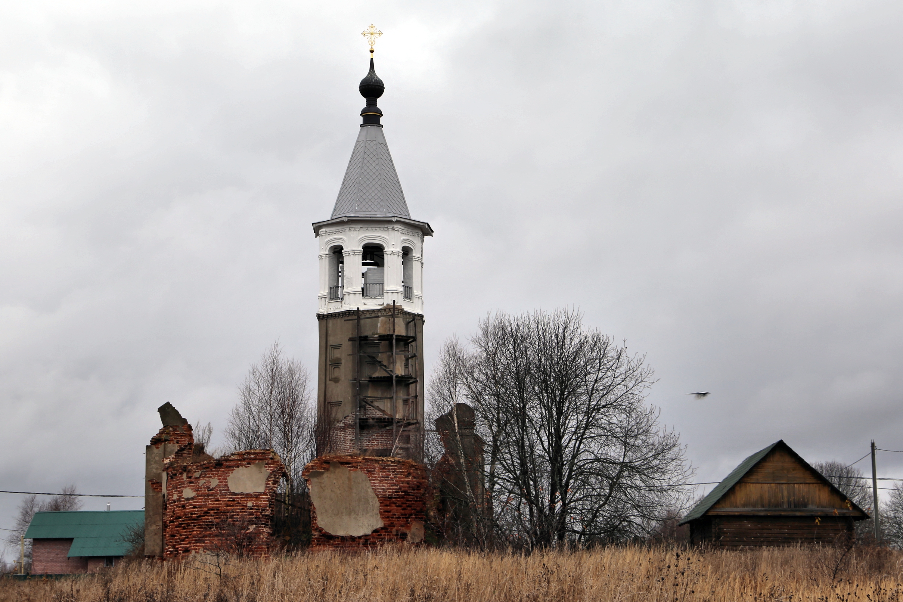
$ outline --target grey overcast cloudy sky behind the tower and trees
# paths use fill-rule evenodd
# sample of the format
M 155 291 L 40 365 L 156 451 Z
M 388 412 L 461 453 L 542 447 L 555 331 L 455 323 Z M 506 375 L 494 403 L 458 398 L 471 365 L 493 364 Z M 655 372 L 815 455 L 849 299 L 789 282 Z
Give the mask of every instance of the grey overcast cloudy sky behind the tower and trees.
M 314 366 L 369 23 L 428 370 L 568 305 L 646 355 L 697 480 L 903 449 L 899 2 L 7 0 L 0 488 L 140 495 L 157 406 L 216 442 L 275 339 Z

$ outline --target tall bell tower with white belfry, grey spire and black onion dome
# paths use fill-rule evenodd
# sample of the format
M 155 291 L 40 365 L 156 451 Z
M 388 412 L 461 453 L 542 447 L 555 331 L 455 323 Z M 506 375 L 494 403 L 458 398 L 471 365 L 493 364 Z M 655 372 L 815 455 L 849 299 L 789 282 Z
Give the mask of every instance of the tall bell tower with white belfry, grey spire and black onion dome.
M 371 54 L 358 86 L 367 106 L 339 198 L 330 218 L 313 224 L 320 246 L 317 455 L 421 461 L 424 237 L 433 228 L 408 211 L 380 123 L 385 89 Z

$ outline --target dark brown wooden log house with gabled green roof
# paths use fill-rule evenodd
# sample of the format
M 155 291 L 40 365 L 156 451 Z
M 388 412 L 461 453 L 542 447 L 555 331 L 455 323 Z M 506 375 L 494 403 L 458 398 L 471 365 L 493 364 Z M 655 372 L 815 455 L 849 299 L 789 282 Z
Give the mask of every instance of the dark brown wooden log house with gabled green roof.
M 832 544 L 869 518 L 783 440 L 749 456 L 680 524 L 692 544 L 724 548 Z

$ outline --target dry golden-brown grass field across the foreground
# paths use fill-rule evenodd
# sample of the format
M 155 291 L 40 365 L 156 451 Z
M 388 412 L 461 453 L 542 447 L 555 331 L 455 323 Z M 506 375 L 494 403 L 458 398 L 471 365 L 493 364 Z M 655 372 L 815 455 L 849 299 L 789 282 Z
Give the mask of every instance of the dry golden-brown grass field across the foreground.
M 222 575 L 197 562 L 134 562 L 60 580 L 0 581 L 0 602 L 182 600 L 901 599 L 903 554 L 880 548 L 685 551 L 622 547 L 526 556 L 444 550 L 307 553 L 237 560 Z

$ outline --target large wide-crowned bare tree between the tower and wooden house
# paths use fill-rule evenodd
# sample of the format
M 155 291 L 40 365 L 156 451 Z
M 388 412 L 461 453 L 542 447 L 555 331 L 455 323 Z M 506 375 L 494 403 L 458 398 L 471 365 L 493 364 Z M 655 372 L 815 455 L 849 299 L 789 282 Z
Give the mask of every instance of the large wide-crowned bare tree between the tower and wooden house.
M 573 310 L 497 313 L 469 347 L 442 349 L 431 404 L 470 403 L 493 523 L 528 547 L 618 542 L 687 502 L 692 474 L 674 431 L 646 403 L 653 383 Z

